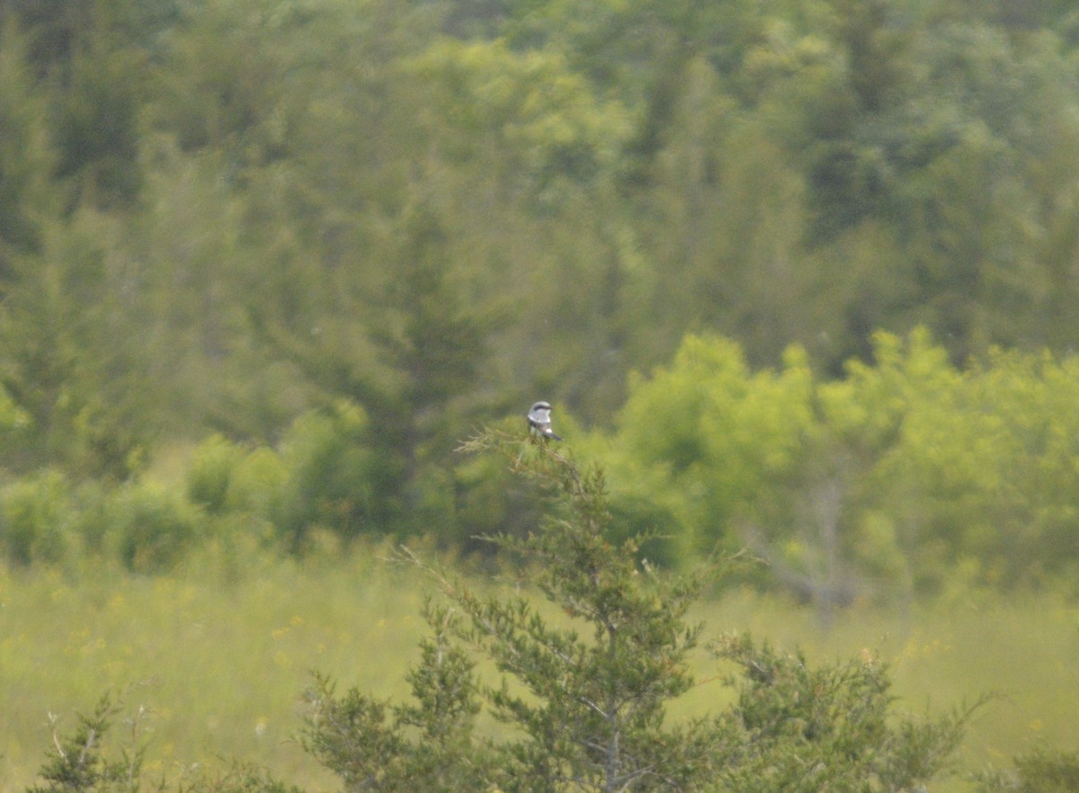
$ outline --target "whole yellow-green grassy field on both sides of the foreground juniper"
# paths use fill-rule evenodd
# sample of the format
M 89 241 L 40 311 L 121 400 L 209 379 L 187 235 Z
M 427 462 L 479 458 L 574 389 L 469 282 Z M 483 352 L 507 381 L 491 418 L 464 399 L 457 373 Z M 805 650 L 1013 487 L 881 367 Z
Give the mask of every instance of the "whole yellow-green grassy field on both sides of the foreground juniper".
M 434 589 L 379 556 L 328 552 L 300 564 L 218 548 L 163 577 L 0 570 L 0 791 L 33 781 L 51 717 L 71 726 L 74 710 L 90 710 L 106 691 L 123 693 L 127 712 L 149 709 L 142 726 L 152 730 L 154 775 L 175 779 L 196 762 L 236 757 L 313 791 L 334 789 L 293 739 L 310 671 L 402 695 L 401 673 L 424 630 L 419 610 Z M 738 592 L 701 603 L 694 616 L 706 637 L 750 630 L 810 659 L 876 652 L 892 667 L 897 707 L 916 713 L 999 693 L 972 724 L 960 770 L 1007 765 L 1038 741 L 1079 746 L 1079 610 L 1063 600 L 853 609 L 825 631 L 810 610 Z M 698 664 L 701 682 L 674 717 L 729 696 L 707 653 Z M 956 779 L 934 793 L 967 789 Z

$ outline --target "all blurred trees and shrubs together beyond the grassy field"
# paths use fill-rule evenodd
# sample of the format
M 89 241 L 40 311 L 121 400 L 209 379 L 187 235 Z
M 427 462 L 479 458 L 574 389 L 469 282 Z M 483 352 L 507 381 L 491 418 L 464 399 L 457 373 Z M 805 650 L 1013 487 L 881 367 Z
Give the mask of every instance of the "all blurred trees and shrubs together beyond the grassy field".
M 543 397 L 653 561 L 1075 580 L 1069 2 L 3 0 L 0 83 L 11 563 L 468 552 Z

